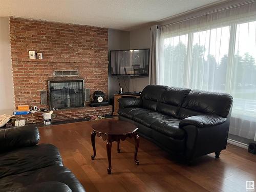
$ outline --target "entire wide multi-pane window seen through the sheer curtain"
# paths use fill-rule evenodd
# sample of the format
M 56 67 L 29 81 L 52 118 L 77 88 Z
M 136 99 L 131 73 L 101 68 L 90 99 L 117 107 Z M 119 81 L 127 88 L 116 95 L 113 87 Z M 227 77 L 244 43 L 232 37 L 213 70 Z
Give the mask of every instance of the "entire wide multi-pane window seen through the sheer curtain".
M 161 84 L 230 93 L 234 114 L 256 117 L 256 21 L 190 31 L 163 42 Z

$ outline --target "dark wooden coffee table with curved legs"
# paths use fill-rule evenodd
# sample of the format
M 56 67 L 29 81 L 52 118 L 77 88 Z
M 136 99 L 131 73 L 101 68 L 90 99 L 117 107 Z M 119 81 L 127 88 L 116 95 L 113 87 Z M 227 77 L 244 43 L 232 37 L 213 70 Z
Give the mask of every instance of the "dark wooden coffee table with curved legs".
M 108 174 L 111 174 L 111 147 L 112 142 L 117 141 L 117 152 L 120 153 L 120 140 L 124 141 L 127 137 L 135 139 L 135 153 L 134 161 L 139 165 L 139 160 L 137 160 L 137 153 L 139 149 L 140 138 L 137 135 L 136 131 L 138 130 L 137 126 L 126 121 L 102 121 L 92 125 L 93 132 L 91 133 L 91 141 L 93 146 L 93 155 L 92 160 L 96 156 L 95 148 L 95 136 L 101 137 L 106 142 L 106 154 L 108 155 L 109 168 Z

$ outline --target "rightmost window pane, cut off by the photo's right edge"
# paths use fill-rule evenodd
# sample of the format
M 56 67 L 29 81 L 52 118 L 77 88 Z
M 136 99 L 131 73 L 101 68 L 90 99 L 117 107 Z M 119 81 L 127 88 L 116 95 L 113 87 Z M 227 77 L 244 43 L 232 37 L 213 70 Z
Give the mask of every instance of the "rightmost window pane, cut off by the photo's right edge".
M 256 21 L 236 25 L 236 43 L 232 55 L 234 115 L 256 117 Z

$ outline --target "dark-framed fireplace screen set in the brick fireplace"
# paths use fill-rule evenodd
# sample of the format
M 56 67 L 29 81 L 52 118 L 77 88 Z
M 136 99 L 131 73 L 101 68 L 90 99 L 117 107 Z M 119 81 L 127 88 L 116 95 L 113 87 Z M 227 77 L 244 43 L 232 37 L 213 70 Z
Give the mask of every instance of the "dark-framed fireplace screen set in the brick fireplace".
M 83 80 L 49 80 L 48 86 L 51 110 L 84 106 Z

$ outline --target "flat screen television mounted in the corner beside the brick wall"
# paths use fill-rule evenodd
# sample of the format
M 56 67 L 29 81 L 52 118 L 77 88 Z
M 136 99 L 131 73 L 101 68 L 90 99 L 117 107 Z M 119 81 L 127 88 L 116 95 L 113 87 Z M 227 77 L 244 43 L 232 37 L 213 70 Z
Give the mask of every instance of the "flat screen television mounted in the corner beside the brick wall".
M 150 49 L 110 51 L 112 75 L 147 76 Z

